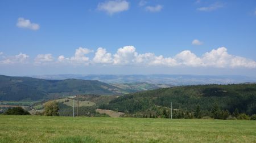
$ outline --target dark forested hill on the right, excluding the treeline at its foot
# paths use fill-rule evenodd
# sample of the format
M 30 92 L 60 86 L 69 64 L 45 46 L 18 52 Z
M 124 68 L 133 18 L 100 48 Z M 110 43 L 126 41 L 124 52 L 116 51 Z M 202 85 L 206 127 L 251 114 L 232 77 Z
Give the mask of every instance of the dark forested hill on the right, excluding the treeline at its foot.
M 256 114 L 256 84 L 176 86 L 127 94 L 102 105 L 102 109 L 119 110 L 134 114 L 172 107 L 187 111 L 210 111 L 214 104 L 233 112 L 236 108 L 246 114 Z

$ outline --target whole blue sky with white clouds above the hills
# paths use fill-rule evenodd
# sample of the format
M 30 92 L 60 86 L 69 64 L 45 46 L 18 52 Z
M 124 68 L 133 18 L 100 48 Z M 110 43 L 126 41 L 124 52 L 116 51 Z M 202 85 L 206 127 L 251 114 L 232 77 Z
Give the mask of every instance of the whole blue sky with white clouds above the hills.
M 256 1 L 0 1 L 0 74 L 256 77 Z

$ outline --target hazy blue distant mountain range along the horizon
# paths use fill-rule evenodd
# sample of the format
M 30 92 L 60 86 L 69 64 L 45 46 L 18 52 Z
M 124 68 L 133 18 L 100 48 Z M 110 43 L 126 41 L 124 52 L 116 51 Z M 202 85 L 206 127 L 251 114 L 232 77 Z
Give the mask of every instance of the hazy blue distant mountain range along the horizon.
M 255 77 L 247 76 L 200 76 L 200 75 L 42 75 L 31 76 L 39 79 L 83 79 L 98 80 L 105 83 L 150 83 L 166 85 L 197 84 L 238 84 L 256 83 Z

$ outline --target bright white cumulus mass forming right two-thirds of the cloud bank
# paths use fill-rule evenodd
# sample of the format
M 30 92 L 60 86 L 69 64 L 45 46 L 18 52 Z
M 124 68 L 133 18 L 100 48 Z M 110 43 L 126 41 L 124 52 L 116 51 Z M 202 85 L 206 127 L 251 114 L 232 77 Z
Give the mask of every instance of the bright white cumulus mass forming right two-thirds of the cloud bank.
M 225 47 L 213 49 L 210 52 L 197 57 L 189 50 L 181 51 L 174 57 L 156 56 L 154 53 L 138 54 L 134 46 L 125 46 L 112 54 L 107 53 L 106 49 L 99 48 L 94 57 L 96 63 L 108 63 L 114 65 L 141 65 L 141 66 L 188 66 L 188 67 L 247 67 L 255 68 L 254 60 L 228 54 Z M 104 60 L 101 60 L 104 59 Z

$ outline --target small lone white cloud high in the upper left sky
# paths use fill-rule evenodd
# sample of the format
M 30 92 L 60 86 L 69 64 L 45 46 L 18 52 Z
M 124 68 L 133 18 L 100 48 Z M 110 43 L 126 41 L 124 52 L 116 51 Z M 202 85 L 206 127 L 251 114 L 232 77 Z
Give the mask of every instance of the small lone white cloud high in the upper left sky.
M 29 19 L 18 18 L 18 22 L 16 23 L 19 28 L 27 28 L 31 30 L 38 30 L 40 28 L 39 24 L 31 23 Z

